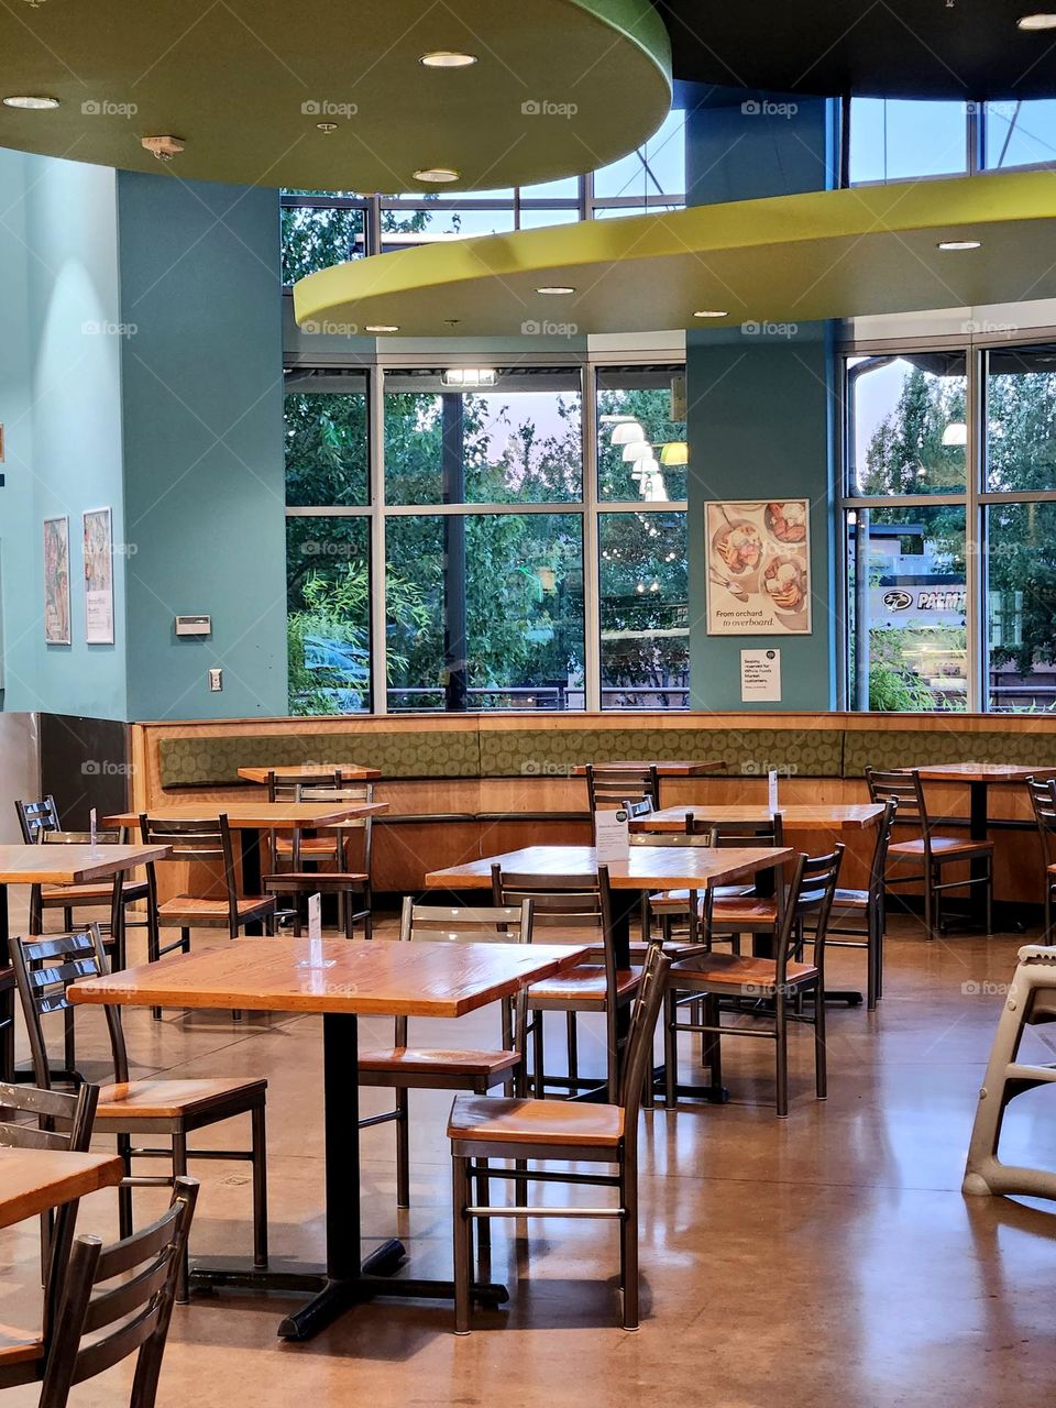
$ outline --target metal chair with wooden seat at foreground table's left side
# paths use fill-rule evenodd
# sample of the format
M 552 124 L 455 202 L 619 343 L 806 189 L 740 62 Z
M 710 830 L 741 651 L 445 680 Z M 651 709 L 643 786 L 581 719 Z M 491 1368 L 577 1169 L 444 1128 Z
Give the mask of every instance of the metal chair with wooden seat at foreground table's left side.
M 89 977 L 106 977 L 110 972 L 99 929 L 92 925 L 82 934 L 48 935 L 45 939 L 15 939 L 11 962 L 18 981 L 23 1015 L 30 1038 L 30 1052 L 37 1083 L 51 1084 L 48 1049 L 44 1039 L 44 1018 L 62 1012 L 70 1005 L 68 988 Z M 268 1266 L 268 1148 L 265 1132 L 265 1101 L 268 1081 L 242 1079 L 211 1080 L 130 1080 L 121 1010 L 106 1005 L 110 1050 L 114 1062 L 114 1081 L 99 1094 L 96 1133 L 117 1136 L 117 1152 L 125 1166 L 125 1177 L 118 1188 L 121 1235 L 132 1231 L 132 1188 L 169 1187 L 187 1171 L 187 1159 L 224 1159 L 249 1163 L 253 1173 L 253 1264 Z M 187 1149 L 187 1136 L 196 1129 L 207 1129 L 249 1115 L 251 1148 L 246 1149 Z M 162 1133 L 172 1140 L 168 1149 L 132 1145 L 132 1135 Z M 168 1159 L 168 1176 L 132 1174 L 134 1159 Z M 180 1273 L 179 1300 L 187 1298 L 187 1270 Z

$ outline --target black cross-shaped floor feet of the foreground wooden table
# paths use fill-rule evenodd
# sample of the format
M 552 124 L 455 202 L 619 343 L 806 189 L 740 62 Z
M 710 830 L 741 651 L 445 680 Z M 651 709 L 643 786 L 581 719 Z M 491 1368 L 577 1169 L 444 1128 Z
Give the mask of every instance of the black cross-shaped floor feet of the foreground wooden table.
M 359 1274 L 331 1276 L 322 1267 L 290 1266 L 282 1271 L 255 1269 L 234 1259 L 230 1263 L 200 1266 L 191 1263 L 191 1291 L 217 1290 L 308 1295 L 298 1311 L 279 1322 L 279 1339 L 307 1340 L 327 1329 L 335 1319 L 363 1301 L 453 1301 L 453 1281 L 397 1277 L 393 1273 L 406 1257 L 403 1242 L 384 1242 L 363 1262 Z M 472 1287 L 473 1300 L 483 1305 L 503 1305 L 510 1300 L 504 1286 L 489 1283 Z

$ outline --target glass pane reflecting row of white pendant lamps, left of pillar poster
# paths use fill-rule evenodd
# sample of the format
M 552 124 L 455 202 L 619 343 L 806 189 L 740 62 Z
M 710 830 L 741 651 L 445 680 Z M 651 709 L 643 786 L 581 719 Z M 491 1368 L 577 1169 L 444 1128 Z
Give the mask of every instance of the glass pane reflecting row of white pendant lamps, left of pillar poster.
M 686 369 L 607 367 L 597 379 L 598 497 L 686 497 Z

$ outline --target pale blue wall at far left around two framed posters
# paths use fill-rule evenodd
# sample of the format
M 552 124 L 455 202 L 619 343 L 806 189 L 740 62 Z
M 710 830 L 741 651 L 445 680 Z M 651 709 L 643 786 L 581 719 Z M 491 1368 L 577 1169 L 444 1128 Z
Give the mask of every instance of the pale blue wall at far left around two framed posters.
M 111 508 L 124 543 L 114 172 L 0 152 L 0 556 L 8 711 L 124 718 L 124 556 L 115 645 L 84 643 L 82 515 Z M 42 520 L 69 517 L 72 643 L 45 645 Z

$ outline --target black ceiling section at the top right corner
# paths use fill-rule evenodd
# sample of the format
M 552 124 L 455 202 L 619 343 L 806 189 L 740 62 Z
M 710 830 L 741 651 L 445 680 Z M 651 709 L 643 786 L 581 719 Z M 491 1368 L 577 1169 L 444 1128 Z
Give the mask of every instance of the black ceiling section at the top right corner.
M 1056 0 L 655 0 L 674 76 L 783 93 L 1056 97 Z

